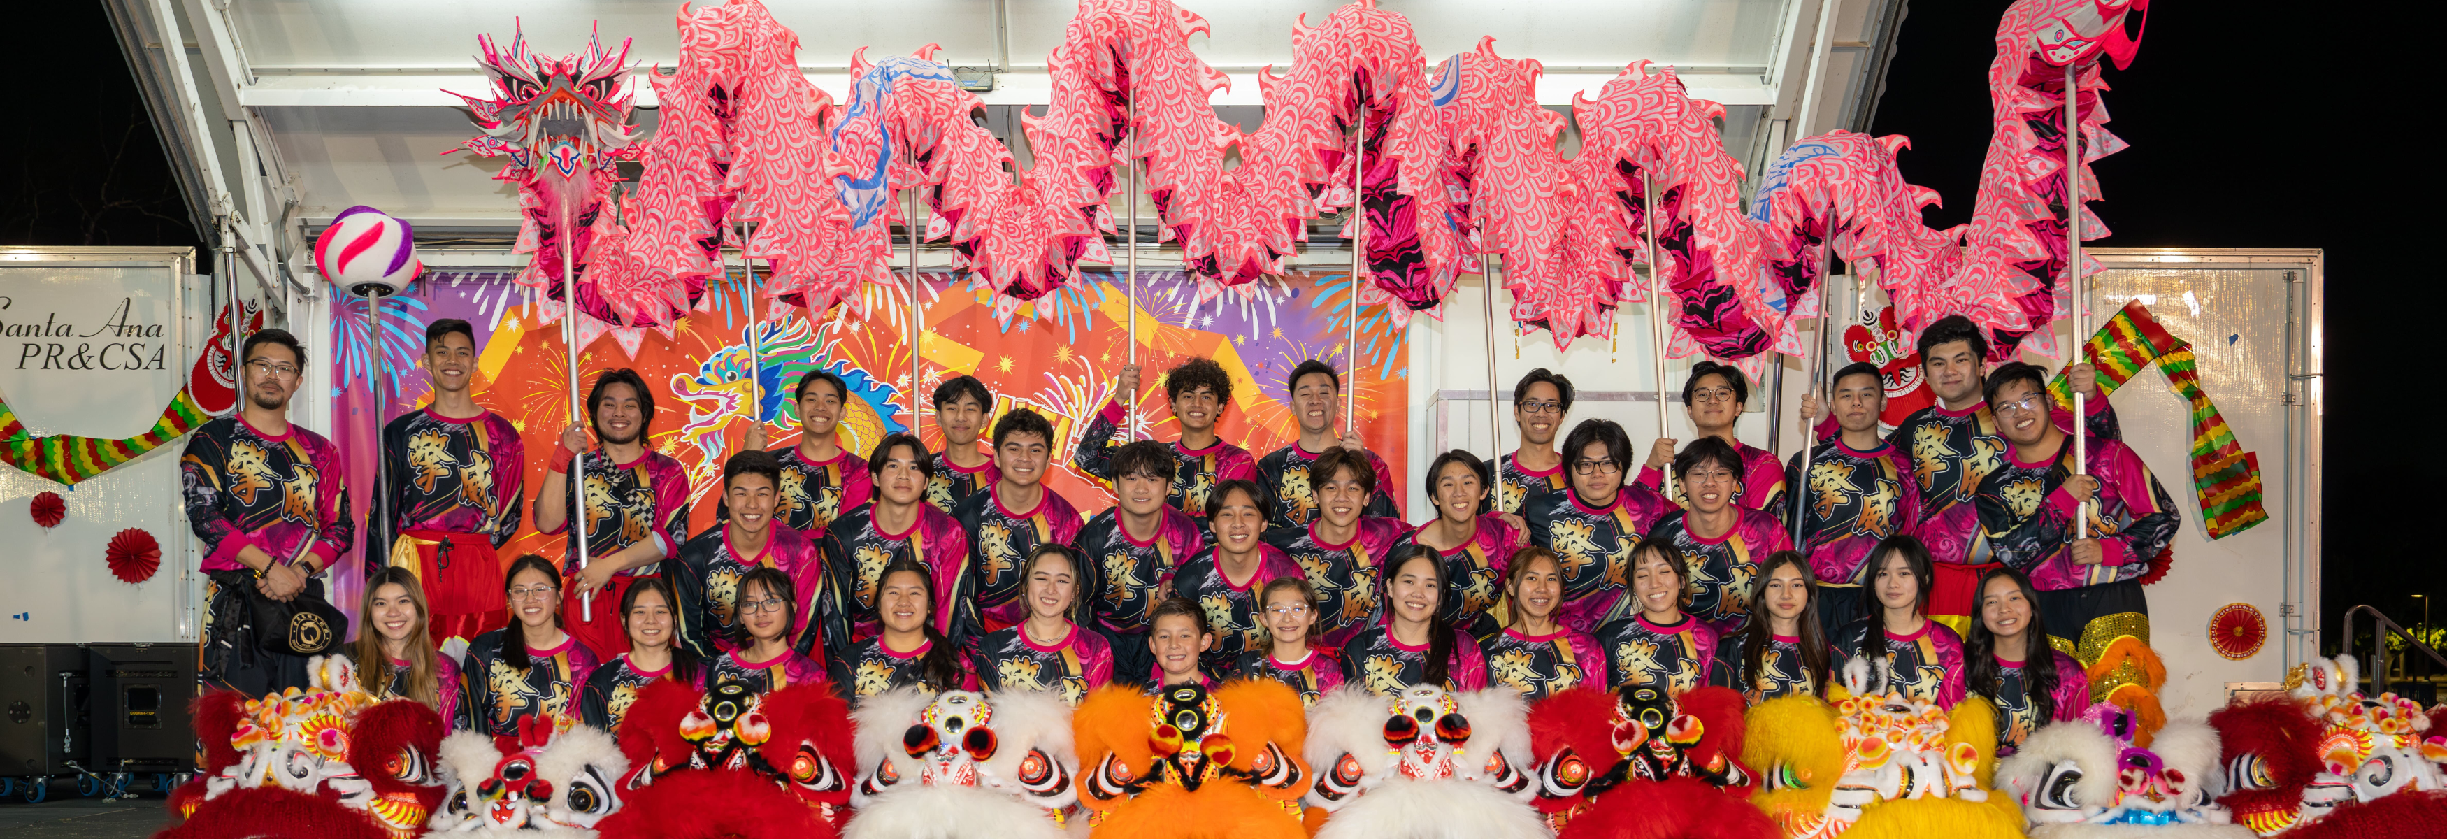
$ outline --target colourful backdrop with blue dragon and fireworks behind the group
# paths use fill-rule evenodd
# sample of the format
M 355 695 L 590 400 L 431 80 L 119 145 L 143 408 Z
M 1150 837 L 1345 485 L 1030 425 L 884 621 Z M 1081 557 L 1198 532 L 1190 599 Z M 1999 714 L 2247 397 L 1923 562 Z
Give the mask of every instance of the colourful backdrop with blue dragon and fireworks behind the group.
M 1077 438 L 1096 411 L 1113 399 L 1113 382 L 1128 362 L 1131 301 L 1126 274 L 1089 274 L 1091 284 L 1062 286 L 1008 316 L 996 316 L 989 291 L 952 289 L 949 274 L 925 276 L 923 406 L 947 377 L 974 374 L 996 396 L 996 416 L 1016 406 L 1045 413 L 1060 440 L 1047 487 L 1067 497 L 1082 514 L 1113 504 L 1113 494 L 1094 477 L 1072 467 Z M 1138 360 L 1145 367 L 1140 438 L 1170 440 L 1179 433 L 1165 406 L 1162 369 L 1187 357 L 1211 357 L 1233 374 L 1233 404 L 1221 435 L 1265 455 L 1297 438 L 1287 411 L 1282 377 L 1302 360 L 1316 357 L 1343 367 L 1348 330 L 1348 274 L 1290 274 L 1282 284 L 1263 284 L 1250 294 L 1226 294 L 1197 306 L 1197 284 L 1179 272 L 1138 274 Z M 693 523 L 712 526 L 722 460 L 739 450 L 756 418 L 768 423 L 768 445 L 798 443 L 798 416 L 790 389 L 808 369 L 842 374 L 854 391 L 842 421 L 842 445 L 869 453 L 886 433 L 908 431 L 913 408 L 908 391 L 908 286 L 869 284 L 866 318 L 839 306 L 822 320 L 808 311 L 773 306 L 763 328 L 763 364 L 749 379 L 749 289 L 737 272 L 707 289 L 705 303 L 680 318 L 666 340 L 648 333 L 629 357 L 614 340 L 597 338 L 580 350 L 580 386 L 592 386 L 595 372 L 634 367 L 653 386 L 653 448 L 688 465 Z M 558 323 L 538 323 L 548 301 L 529 301 L 511 272 L 428 272 L 406 294 L 382 303 L 382 364 L 369 352 L 367 301 L 345 298 L 333 308 L 333 396 L 338 401 L 335 440 L 347 453 L 347 484 L 374 487 L 374 423 L 433 401 L 426 372 L 418 367 L 426 323 L 465 318 L 477 333 L 475 399 L 509 416 L 526 440 L 526 494 L 543 484 L 546 453 L 558 428 L 568 423 L 565 347 Z M 1363 308 L 1358 323 L 1358 374 L 1343 384 L 1358 386 L 1361 433 L 1395 470 L 1395 487 L 1407 487 L 1405 438 L 1409 413 L 1409 362 L 1397 330 L 1383 308 Z M 382 394 L 377 399 L 377 394 Z M 761 394 L 761 399 L 756 396 Z M 932 406 L 925 406 L 932 413 Z M 920 423 L 930 448 L 942 448 L 932 421 Z M 367 509 L 369 499 L 355 499 Z M 533 504 L 529 504 L 533 509 Z M 558 558 L 560 536 L 541 536 L 531 526 L 502 550 L 504 563 L 521 553 Z M 360 555 L 365 555 L 360 550 Z

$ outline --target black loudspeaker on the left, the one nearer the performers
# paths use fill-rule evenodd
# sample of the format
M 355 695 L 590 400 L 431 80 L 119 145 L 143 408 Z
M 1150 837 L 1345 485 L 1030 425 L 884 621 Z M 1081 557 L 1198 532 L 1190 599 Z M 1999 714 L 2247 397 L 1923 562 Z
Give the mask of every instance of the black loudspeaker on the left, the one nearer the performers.
M 88 643 L 93 771 L 181 773 L 196 766 L 193 643 Z

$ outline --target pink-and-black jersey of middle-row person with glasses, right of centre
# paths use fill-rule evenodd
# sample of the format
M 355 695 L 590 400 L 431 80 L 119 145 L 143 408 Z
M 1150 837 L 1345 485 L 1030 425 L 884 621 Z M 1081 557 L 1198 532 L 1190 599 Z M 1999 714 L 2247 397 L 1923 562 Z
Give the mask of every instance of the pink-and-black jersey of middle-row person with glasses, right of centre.
M 1578 492 L 1564 492 L 1522 516 L 1529 521 L 1529 543 L 1554 550 L 1564 565 L 1564 612 L 1556 614 L 1564 626 L 1593 631 L 1627 614 L 1632 545 L 1669 511 L 1676 511 L 1674 501 L 1627 484 L 1603 509 L 1581 501 Z

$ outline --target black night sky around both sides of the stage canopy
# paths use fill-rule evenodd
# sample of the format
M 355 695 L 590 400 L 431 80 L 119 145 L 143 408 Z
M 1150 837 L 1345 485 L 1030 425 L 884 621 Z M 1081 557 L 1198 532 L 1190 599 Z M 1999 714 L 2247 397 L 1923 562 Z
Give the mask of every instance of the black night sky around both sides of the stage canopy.
M 1989 137 L 1985 78 L 2004 7 L 1911 2 L 1870 127 L 1911 137 L 1904 176 L 1948 196 L 1945 208 L 1928 210 L 1933 227 L 1970 220 Z M 17 125 L 0 132 L 0 245 L 201 247 L 100 5 L 46 5 L 12 24 L 42 34 L 15 49 L 20 108 Z M 2437 448 L 2408 445 L 2420 440 L 2413 426 L 2425 416 L 2388 408 L 2391 384 L 2374 367 L 2432 357 L 2435 347 L 2413 338 L 2435 330 L 2423 318 L 2447 296 L 2410 257 L 2388 257 L 2437 242 L 2423 230 L 2435 210 L 2418 210 L 2427 203 L 2410 188 L 2435 183 L 2437 174 L 2403 152 L 2418 139 L 2408 135 L 2427 105 L 2378 100 L 2378 93 L 2425 91 L 2418 78 L 2435 68 L 2415 59 L 2435 46 L 2413 39 L 2427 32 L 2342 7 L 2163 0 L 2151 10 L 2134 66 L 2107 71 L 2109 130 L 2131 149 L 2095 164 L 2109 201 L 2092 208 L 2114 230 L 2095 245 L 2327 249 L 2322 489 L 2337 489 L 2327 494 L 2334 526 L 2322 533 L 2330 629 L 2352 604 L 2413 624 L 2420 602 L 2408 594 L 2447 592 L 2430 533 L 2408 523 L 2437 519 L 2405 475 L 2410 457 Z M 2374 303 L 2398 316 L 2381 328 L 2354 328 Z M 2359 450 L 2359 443 L 2405 450 Z M 2278 450 L 2278 440 L 2249 445 Z M 2180 475 L 2170 479 L 2168 489 L 2188 497 Z M 2276 489 L 2268 499 L 2276 501 Z M 2447 621 L 2447 609 L 2435 619 Z M 2327 638 L 2334 648 L 2334 631 Z

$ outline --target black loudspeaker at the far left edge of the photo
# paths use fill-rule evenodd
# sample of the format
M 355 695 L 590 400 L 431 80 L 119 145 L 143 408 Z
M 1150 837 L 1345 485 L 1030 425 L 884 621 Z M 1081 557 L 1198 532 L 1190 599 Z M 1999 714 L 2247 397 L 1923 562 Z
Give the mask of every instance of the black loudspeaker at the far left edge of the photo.
M 69 761 L 88 766 L 86 675 L 78 646 L 0 643 L 0 775 L 66 775 Z

